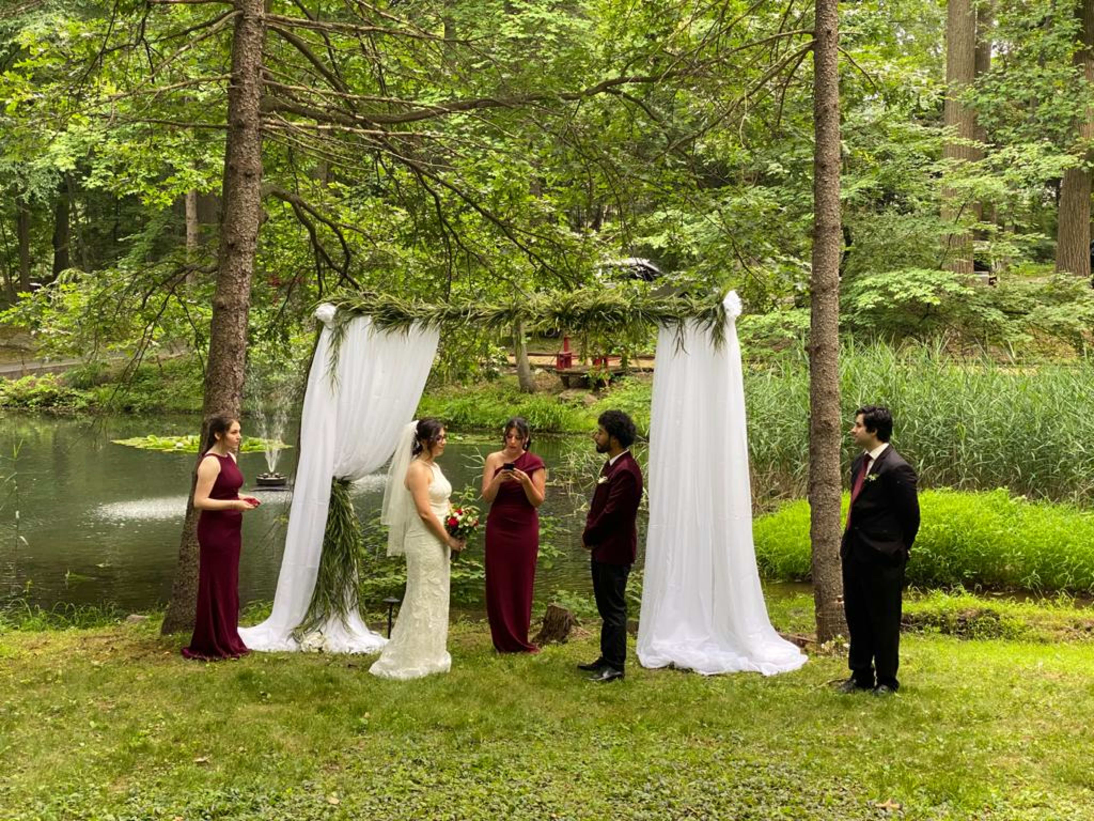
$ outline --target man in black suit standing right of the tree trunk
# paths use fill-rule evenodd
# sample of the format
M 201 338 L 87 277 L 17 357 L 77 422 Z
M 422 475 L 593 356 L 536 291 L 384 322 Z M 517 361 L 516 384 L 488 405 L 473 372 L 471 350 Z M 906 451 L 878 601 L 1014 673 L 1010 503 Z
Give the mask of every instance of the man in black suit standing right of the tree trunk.
M 888 443 L 892 435 L 887 407 L 854 412 L 851 438 L 863 452 L 851 462 L 851 505 L 839 550 L 851 634 L 851 678 L 839 685 L 841 693 L 887 695 L 900 686 L 900 593 L 919 531 L 919 498 L 916 472 Z

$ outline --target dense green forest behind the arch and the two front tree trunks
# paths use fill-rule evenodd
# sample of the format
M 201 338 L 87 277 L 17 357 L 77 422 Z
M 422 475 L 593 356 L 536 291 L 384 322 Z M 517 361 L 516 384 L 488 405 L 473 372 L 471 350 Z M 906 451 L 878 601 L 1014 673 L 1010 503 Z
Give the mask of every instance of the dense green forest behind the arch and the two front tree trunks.
M 246 5 L 7 4 L 2 321 L 39 354 L 207 356 Z M 626 257 L 664 271 L 653 288 L 736 288 L 754 350 L 803 338 L 812 3 L 266 7 L 253 360 L 306 349 L 311 307 L 340 287 L 505 302 L 610 287 Z M 841 7 L 842 335 L 1085 350 L 1092 15 Z M 435 378 L 481 375 L 510 342 L 446 333 Z

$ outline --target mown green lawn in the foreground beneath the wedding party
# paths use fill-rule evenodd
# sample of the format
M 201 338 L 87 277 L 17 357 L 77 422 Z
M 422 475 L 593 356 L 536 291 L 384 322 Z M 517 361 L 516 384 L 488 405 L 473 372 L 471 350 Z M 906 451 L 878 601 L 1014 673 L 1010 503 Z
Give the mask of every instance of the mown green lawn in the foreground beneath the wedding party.
M 840 655 L 596 685 L 592 635 L 498 657 L 457 623 L 452 673 L 397 683 L 361 657 L 185 661 L 184 638 L 0 634 L 0 818 L 1094 819 L 1090 641 L 907 635 L 878 699 L 833 692 Z

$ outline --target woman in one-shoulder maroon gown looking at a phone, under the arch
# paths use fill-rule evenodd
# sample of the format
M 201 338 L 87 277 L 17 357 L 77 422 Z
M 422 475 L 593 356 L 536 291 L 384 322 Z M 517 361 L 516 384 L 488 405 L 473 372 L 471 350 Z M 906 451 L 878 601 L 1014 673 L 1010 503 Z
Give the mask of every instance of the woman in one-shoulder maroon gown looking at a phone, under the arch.
M 539 555 L 539 514 L 547 478 L 520 416 L 505 423 L 505 446 L 486 458 L 486 612 L 498 652 L 538 652 L 528 641 L 532 588 Z

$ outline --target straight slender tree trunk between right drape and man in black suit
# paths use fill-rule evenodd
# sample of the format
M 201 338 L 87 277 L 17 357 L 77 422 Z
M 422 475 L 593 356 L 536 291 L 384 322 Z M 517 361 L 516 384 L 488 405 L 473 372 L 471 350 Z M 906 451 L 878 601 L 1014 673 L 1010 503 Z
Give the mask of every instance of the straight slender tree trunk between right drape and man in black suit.
M 810 320 L 810 542 L 817 641 L 847 635 L 839 564 L 839 14 L 816 0 L 813 46 L 813 274 Z

